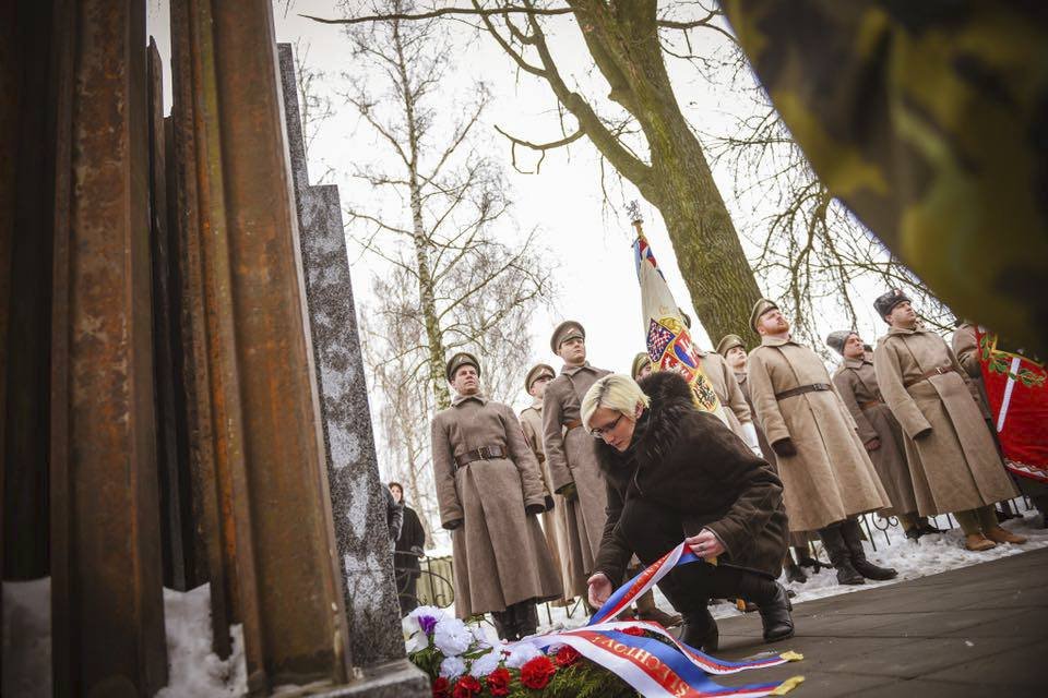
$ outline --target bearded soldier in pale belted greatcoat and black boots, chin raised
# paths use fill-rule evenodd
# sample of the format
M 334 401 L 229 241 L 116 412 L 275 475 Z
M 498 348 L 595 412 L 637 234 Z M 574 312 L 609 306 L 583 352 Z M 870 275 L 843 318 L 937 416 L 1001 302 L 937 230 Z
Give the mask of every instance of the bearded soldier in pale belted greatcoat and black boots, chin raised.
M 772 301 L 758 301 L 750 323 L 761 346 L 750 352 L 747 382 L 777 457 L 790 530 L 819 531 L 839 583 L 891 579 L 894 569 L 866 558 L 856 519 L 891 502 L 822 359 L 790 338 Z

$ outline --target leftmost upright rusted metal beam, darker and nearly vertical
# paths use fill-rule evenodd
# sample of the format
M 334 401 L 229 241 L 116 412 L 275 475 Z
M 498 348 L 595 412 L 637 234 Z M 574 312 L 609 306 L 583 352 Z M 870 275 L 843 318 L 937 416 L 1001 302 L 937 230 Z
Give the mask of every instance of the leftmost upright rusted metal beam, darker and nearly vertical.
M 145 8 L 64 7 L 52 354 L 53 688 L 167 681 L 154 433 Z M 57 16 L 59 13 L 57 13 Z M 72 26 L 70 26 L 72 25 Z M 68 202 L 68 204 L 67 204 Z M 68 212 L 64 207 L 68 205 Z M 99 638 L 104 638 L 104 641 Z

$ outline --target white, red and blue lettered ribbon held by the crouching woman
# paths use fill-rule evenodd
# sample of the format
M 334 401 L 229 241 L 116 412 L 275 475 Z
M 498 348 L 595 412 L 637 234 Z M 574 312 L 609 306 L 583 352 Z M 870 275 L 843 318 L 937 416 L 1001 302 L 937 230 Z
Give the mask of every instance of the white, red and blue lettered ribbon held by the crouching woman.
M 657 623 L 615 622 L 636 597 L 643 594 L 678 565 L 701 559 L 684 543 L 663 555 L 653 565 L 617 589 L 582 628 L 536 635 L 521 640 L 543 650 L 568 645 L 586 659 L 615 673 L 646 698 L 712 698 L 713 696 L 779 696 L 793 689 L 803 676 L 784 682 L 720 686 L 708 674 L 736 674 L 776 666 L 803 659 L 797 652 L 752 657 L 739 661 L 718 660 L 684 645 Z M 640 627 L 659 640 L 624 633 Z

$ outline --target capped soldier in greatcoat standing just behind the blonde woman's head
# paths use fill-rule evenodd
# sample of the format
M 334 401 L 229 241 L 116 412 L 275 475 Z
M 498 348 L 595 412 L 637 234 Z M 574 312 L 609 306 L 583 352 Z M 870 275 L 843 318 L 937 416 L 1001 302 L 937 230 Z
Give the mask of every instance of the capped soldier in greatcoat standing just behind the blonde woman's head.
M 553 491 L 565 500 L 570 593 L 585 597 L 604 535 L 607 493 L 580 406 L 590 386 L 610 371 L 586 361 L 586 332 L 574 321 L 558 325 L 549 344 L 564 365 L 543 398 L 543 446 Z

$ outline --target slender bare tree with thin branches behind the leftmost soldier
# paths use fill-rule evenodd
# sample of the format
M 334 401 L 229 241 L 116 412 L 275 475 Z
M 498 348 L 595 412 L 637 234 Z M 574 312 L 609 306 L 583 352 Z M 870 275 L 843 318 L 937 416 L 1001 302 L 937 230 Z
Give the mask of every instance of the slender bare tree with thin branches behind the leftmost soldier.
M 391 13 L 402 7 L 398 0 L 382 5 Z M 531 338 L 520 328 L 552 286 L 534 236 L 516 244 L 502 241 L 510 222 L 507 185 L 474 134 L 488 92 L 477 85 L 472 100 L 460 103 L 443 123 L 444 96 L 438 93 L 452 52 L 442 27 L 392 20 L 354 27 L 348 35 L 360 74 L 347 75 L 346 99 L 395 163 L 357 171 L 374 196 L 368 207 L 350 207 L 349 224 L 364 249 L 412 291 L 405 297 L 383 287 L 377 309 L 383 325 L 410 322 L 421 328 L 416 338 L 386 340 L 380 356 L 406 358 L 402 380 L 429 385 L 431 409 L 424 414 L 450 404 L 444 362 L 455 350 L 498 357 L 485 366 L 485 383 L 500 397 L 526 369 Z M 383 208 L 390 198 L 393 205 Z

